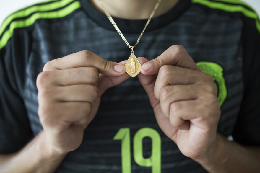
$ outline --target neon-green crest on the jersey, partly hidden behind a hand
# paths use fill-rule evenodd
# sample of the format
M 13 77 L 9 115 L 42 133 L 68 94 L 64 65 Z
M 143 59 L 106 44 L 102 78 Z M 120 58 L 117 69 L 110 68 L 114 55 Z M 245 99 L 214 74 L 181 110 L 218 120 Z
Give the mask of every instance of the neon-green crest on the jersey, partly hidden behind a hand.
M 223 68 L 217 63 L 207 61 L 200 61 L 196 64 L 202 72 L 208 73 L 213 77 L 215 88 L 217 90 L 217 99 L 221 106 L 228 95 L 225 79 L 223 77 Z

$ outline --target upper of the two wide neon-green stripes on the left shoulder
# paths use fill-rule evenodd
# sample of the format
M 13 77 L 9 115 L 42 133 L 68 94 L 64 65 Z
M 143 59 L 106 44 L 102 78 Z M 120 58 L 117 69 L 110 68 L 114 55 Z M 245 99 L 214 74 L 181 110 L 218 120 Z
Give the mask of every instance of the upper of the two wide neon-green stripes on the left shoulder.
M 19 10 L 17 12 L 14 12 L 13 14 L 11 14 L 9 17 L 7 17 L 4 20 L 4 22 L 3 22 L 3 24 L 0 28 L 0 35 L 3 34 L 5 28 L 15 18 L 26 17 L 26 16 L 29 16 L 30 14 L 34 13 L 34 12 L 44 12 L 44 11 L 55 10 L 55 9 L 61 8 L 63 6 L 66 6 L 67 4 L 69 4 L 72 1 L 73 0 L 53 1 L 53 3 L 51 3 L 51 4 L 44 4 L 44 5 L 39 5 L 39 6 L 32 5 L 29 8 L 25 7 L 23 10 Z M 48 2 L 48 1 L 45 1 L 45 2 Z

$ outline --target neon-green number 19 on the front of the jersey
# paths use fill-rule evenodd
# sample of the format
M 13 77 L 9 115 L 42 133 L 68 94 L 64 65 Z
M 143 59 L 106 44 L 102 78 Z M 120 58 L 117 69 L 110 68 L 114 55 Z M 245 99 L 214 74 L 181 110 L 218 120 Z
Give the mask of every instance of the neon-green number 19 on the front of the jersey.
M 151 138 L 152 154 L 149 158 L 143 157 L 143 139 Z M 130 129 L 121 128 L 118 130 L 113 140 L 121 140 L 121 162 L 122 173 L 131 173 L 131 143 Z M 152 173 L 161 172 L 161 137 L 160 134 L 152 128 L 141 128 L 133 139 L 134 161 L 142 167 L 152 167 Z

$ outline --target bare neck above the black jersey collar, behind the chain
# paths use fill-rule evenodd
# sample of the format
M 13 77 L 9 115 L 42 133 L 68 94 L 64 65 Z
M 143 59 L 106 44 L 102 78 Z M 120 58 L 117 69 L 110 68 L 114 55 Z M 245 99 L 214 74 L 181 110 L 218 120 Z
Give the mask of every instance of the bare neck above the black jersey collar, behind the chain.
M 85 0 L 87 1 L 87 0 Z M 100 0 L 112 17 L 122 19 L 148 19 L 157 0 Z M 168 12 L 179 0 L 162 0 L 154 17 Z M 101 13 L 103 9 L 99 0 L 90 0 L 91 4 Z

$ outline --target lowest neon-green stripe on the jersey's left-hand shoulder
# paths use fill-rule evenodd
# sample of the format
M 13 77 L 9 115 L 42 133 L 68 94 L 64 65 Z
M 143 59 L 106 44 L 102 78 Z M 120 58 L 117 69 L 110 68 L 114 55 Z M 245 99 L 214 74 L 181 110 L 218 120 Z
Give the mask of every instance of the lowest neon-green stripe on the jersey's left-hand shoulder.
M 9 29 L 4 33 L 3 37 L 0 39 L 0 49 L 3 48 L 7 41 L 12 37 L 14 29 L 24 28 L 31 26 L 37 19 L 54 19 L 61 18 L 71 14 L 76 9 L 79 9 L 81 4 L 79 1 L 71 3 L 63 9 L 53 12 L 36 12 L 31 17 L 24 20 L 17 20 L 10 24 Z

